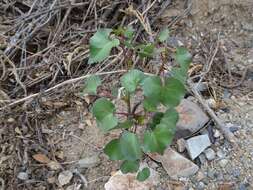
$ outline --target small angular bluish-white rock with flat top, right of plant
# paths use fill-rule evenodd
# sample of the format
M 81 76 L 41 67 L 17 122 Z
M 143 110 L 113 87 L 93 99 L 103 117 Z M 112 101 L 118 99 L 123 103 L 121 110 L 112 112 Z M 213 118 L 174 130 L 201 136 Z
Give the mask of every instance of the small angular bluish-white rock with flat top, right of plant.
M 207 147 L 211 145 L 208 135 L 199 135 L 186 141 L 186 149 L 192 160 L 197 158 Z

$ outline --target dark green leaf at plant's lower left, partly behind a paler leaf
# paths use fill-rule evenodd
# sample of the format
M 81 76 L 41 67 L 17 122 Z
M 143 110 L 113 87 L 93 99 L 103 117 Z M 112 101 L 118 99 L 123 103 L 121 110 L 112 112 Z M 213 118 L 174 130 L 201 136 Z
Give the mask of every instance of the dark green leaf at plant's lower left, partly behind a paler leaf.
M 104 148 L 104 153 L 110 158 L 110 160 L 123 160 L 119 139 L 111 140 Z

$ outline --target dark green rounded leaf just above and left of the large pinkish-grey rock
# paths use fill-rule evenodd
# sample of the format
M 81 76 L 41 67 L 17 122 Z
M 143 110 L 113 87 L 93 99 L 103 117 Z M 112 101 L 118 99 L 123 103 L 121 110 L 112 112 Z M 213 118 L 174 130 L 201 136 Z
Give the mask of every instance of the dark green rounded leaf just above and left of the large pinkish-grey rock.
M 185 88 L 181 81 L 175 78 L 166 78 L 161 91 L 161 102 L 168 107 L 175 107 L 185 95 Z

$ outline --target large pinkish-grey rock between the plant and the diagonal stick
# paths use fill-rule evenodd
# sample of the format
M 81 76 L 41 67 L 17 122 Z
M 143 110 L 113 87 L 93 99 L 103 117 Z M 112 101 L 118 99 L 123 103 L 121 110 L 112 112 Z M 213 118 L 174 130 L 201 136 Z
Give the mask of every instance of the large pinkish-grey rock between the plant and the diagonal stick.
M 179 113 L 177 130 L 190 130 L 194 133 L 209 121 L 209 117 L 202 109 L 196 103 L 187 99 L 181 101 L 177 111 Z

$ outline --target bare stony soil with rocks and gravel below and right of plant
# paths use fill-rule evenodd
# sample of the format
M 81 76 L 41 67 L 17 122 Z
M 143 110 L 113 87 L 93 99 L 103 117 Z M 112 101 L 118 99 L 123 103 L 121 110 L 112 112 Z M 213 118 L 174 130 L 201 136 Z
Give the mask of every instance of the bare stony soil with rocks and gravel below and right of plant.
M 88 111 L 88 100 L 85 103 L 76 99 L 67 108 L 62 108 L 62 102 L 52 102 L 61 109 L 53 117 L 40 119 L 41 129 L 36 130 L 40 145 L 29 139 L 26 126 L 16 127 L 13 138 L 18 138 L 15 143 L 24 151 L 15 151 L 22 157 L 11 158 L 8 152 L 14 146 L 1 145 L 0 173 L 5 170 L 4 177 L 14 173 L 15 179 L 9 180 L 19 188 L 29 184 L 30 189 L 37 190 L 105 187 L 116 190 L 120 186 L 122 190 L 253 189 L 253 3 L 251 0 L 191 2 L 192 8 L 187 10 L 184 1 L 175 1 L 162 16 L 161 24 L 171 23 L 183 10 L 190 12 L 179 17 L 178 26 L 172 27 L 173 38 L 169 43 L 188 46 L 196 66 L 206 63 L 219 43 L 220 49 L 205 80 L 209 87 L 202 95 L 235 135 L 237 147 L 224 138 L 212 118 L 189 94 L 186 103 L 178 108 L 181 118 L 174 143 L 162 157 L 145 158 L 143 162 L 153 169 L 152 175 L 145 183 L 138 183 L 133 175 L 122 177 L 119 163 L 109 161 L 102 153 L 105 142 L 117 134 L 103 134 Z M 232 78 L 225 74 L 229 72 Z M 240 85 L 234 87 L 238 82 Z M 15 121 L 10 118 L 8 123 L 12 126 Z M 7 127 L 0 128 L 1 138 L 10 130 Z M 30 149 L 32 160 L 27 156 Z M 53 155 L 51 159 L 48 154 Z M 15 160 L 31 167 L 7 170 L 16 167 Z M 2 176 L 3 190 L 1 180 Z

